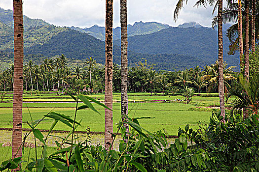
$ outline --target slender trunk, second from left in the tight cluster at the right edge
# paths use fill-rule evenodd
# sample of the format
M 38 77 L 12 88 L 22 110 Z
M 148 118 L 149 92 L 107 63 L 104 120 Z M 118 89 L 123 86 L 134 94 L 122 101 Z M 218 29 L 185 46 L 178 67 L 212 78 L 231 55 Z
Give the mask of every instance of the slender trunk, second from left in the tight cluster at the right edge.
M 245 0 L 245 77 L 249 78 L 249 0 Z

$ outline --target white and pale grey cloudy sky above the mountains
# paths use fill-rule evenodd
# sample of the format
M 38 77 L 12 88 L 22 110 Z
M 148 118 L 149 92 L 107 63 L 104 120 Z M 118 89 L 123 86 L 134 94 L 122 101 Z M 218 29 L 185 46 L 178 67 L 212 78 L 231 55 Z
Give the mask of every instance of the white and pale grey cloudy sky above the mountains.
M 177 23 L 173 21 L 173 11 L 177 0 L 127 0 L 128 23 L 160 22 L 178 26 L 185 22 L 197 22 L 211 27 L 212 8 L 193 7 L 196 0 L 188 0 L 180 12 Z M 38 18 L 57 26 L 91 27 L 105 26 L 106 0 L 23 0 L 23 13 L 30 18 Z M 113 0 L 113 26 L 118 27 L 120 0 Z M 0 7 L 12 9 L 12 0 L 0 0 Z

